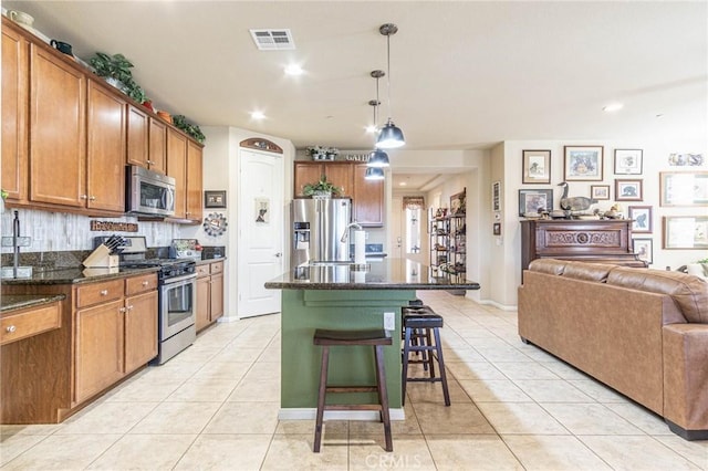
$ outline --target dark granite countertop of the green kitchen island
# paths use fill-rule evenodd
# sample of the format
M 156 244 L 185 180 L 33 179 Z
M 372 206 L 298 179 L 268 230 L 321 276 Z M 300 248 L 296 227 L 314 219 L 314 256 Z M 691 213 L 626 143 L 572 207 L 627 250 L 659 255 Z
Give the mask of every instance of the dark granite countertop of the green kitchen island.
M 367 263 L 366 270 L 350 264 L 302 265 L 266 283 L 271 290 L 479 290 L 464 275 L 433 272 L 406 259 Z

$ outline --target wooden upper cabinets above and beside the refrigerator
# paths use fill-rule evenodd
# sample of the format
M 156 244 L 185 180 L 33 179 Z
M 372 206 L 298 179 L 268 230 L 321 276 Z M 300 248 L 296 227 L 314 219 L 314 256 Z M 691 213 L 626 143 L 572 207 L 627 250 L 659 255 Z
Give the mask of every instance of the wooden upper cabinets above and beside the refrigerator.
M 384 180 L 366 180 L 366 164 L 350 161 L 294 163 L 293 189 L 295 198 L 302 197 L 306 184 L 315 182 L 322 175 L 327 181 L 343 187 L 342 196 L 352 198 L 352 220 L 364 227 L 384 226 Z

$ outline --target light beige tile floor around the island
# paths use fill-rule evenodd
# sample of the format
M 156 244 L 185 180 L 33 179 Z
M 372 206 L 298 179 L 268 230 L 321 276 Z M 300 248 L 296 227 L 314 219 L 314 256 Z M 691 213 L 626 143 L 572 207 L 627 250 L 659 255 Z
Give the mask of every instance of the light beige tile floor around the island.
M 218 324 L 55 426 L 2 426 L 17 470 L 708 470 L 708 441 L 524 345 L 517 313 L 419 292 L 445 316 L 452 405 L 409 384 L 394 452 L 379 423 L 279 421 L 280 316 Z

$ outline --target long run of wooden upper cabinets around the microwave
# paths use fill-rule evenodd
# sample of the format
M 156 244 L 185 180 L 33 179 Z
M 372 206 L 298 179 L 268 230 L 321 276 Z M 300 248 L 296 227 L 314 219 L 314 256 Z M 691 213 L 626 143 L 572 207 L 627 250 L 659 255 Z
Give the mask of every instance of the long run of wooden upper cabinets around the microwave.
M 122 216 L 125 165 L 166 174 L 171 145 L 176 219 L 200 222 L 200 144 L 4 17 L 1 57 L 9 206 Z

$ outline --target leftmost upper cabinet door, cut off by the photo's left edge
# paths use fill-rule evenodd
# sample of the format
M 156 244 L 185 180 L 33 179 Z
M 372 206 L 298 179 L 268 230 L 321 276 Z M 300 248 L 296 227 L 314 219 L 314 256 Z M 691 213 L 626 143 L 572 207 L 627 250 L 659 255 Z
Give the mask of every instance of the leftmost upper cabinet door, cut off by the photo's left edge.
M 9 200 L 27 200 L 29 42 L 2 28 L 2 189 Z

